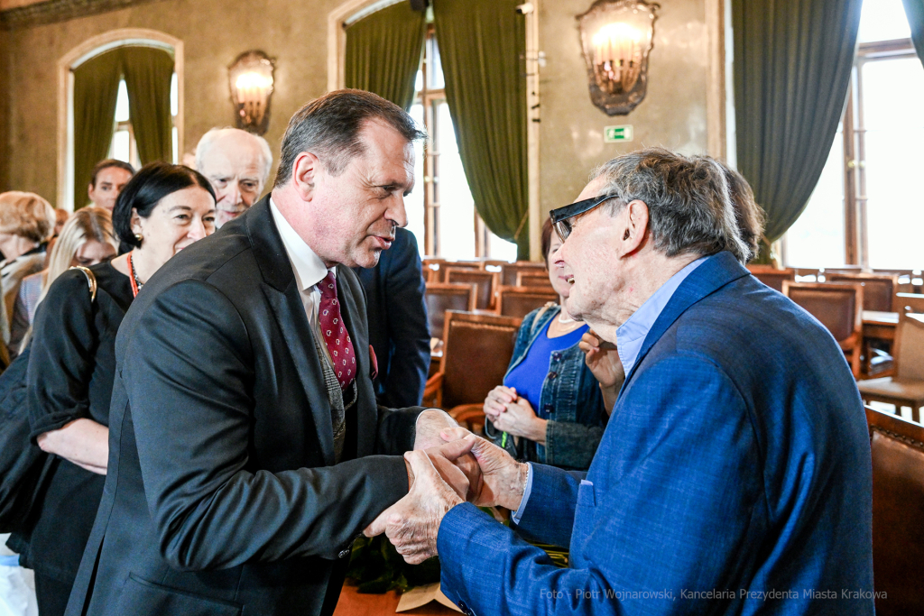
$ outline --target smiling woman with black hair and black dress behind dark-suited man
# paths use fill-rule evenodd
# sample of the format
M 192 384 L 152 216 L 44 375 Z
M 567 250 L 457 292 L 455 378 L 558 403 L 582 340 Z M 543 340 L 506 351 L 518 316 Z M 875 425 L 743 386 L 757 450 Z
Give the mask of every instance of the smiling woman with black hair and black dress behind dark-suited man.
M 29 537 L 21 538 L 42 616 L 64 613 L 103 494 L 119 324 L 154 272 L 212 234 L 214 217 L 205 177 L 181 165 L 145 165 L 113 211 L 116 234 L 132 250 L 92 266 L 91 275 L 61 274 L 37 309 L 27 378 L 31 438 L 54 455 Z

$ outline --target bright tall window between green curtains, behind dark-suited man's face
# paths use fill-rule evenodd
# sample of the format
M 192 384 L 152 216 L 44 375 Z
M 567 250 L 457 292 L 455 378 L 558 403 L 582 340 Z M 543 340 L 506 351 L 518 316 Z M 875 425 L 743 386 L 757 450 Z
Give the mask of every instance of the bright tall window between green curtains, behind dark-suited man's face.
M 430 139 L 426 148 L 416 145 L 417 186 L 405 199 L 405 207 L 407 229 L 417 236 L 421 254 L 451 260 L 516 260 L 517 245 L 492 234 L 475 211 L 446 104 L 440 49 L 432 28 L 416 89 L 410 115 L 427 128 Z

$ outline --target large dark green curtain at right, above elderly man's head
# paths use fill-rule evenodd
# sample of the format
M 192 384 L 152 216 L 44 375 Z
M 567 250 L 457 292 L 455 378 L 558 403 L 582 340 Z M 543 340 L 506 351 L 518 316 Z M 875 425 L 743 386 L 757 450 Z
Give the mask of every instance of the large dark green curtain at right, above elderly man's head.
M 732 0 L 738 171 L 765 238 L 805 209 L 844 111 L 862 0 Z M 761 250 L 764 259 L 769 249 Z

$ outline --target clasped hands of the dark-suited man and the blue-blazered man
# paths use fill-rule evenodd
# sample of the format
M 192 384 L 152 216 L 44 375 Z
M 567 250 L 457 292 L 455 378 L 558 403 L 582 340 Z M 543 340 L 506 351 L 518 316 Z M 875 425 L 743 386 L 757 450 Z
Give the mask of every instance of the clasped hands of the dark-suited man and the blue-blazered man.
M 465 501 L 516 511 L 526 488 L 527 465 L 464 428 L 440 432 L 443 445 L 405 453 L 411 487 L 379 514 L 363 534 L 385 534 L 410 564 L 436 556 L 444 515 Z

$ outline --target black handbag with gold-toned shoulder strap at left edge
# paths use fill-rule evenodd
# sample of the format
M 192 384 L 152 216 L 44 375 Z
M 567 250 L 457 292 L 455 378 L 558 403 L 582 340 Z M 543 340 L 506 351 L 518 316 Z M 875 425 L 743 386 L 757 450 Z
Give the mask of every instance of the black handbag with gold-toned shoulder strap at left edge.
M 91 302 L 96 300 L 96 276 L 87 277 Z M 30 441 L 26 404 L 26 371 L 30 347 L 0 374 L 0 533 L 28 532 L 30 513 L 55 468 L 56 458 Z

